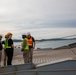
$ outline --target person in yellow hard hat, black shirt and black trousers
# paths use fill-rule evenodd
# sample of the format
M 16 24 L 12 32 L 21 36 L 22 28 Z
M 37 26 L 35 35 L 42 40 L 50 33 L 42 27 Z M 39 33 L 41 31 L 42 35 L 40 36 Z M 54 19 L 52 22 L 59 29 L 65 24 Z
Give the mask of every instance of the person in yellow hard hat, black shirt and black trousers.
M 13 52 L 14 52 L 14 45 L 12 40 L 12 33 L 7 33 L 8 39 L 6 40 L 6 57 L 7 57 L 7 65 L 12 65 L 12 59 L 13 59 Z

